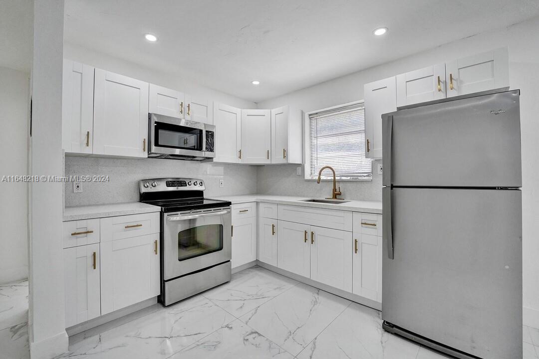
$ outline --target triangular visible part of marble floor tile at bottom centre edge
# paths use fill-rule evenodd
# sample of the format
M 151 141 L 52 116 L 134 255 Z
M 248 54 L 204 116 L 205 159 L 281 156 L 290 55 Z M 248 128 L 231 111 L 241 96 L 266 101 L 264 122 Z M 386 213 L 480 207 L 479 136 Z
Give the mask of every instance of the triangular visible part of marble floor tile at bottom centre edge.
M 256 330 L 236 320 L 179 351 L 171 359 L 293 359 Z

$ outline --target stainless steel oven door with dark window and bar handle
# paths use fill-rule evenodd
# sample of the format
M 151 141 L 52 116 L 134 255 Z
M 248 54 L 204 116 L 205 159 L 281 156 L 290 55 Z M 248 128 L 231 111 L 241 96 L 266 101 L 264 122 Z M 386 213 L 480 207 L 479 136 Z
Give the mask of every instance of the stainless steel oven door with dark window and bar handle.
M 163 216 L 163 279 L 230 261 L 230 207 Z

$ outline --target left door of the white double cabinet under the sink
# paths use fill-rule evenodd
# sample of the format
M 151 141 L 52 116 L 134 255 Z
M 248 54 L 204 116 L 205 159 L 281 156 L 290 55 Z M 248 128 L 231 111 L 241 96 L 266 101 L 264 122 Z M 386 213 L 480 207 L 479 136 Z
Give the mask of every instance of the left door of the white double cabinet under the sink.
M 310 226 L 278 221 L 277 267 L 310 277 Z

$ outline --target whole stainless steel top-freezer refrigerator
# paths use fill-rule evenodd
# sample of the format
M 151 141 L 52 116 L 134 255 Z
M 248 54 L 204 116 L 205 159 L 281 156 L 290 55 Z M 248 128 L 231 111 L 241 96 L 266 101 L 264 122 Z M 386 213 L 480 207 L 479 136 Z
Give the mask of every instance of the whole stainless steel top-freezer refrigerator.
M 522 358 L 519 90 L 382 116 L 384 329 Z

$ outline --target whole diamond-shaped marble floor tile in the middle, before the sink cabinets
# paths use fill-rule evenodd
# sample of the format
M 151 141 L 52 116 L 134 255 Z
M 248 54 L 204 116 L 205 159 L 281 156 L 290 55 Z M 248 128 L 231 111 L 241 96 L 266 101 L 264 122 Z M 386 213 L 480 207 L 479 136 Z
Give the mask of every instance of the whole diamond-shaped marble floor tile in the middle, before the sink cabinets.
M 350 303 L 300 283 L 240 320 L 289 353 L 298 355 Z

